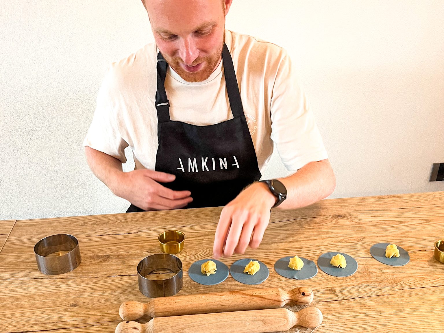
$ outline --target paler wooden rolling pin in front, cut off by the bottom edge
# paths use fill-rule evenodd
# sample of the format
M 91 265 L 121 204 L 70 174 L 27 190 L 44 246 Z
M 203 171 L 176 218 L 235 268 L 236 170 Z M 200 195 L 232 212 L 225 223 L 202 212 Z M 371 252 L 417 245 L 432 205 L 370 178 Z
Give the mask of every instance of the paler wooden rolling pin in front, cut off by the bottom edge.
M 123 321 L 115 333 L 264 333 L 286 331 L 295 325 L 317 327 L 321 323 L 321 310 L 309 307 L 296 313 L 268 309 L 153 318 L 146 324 Z

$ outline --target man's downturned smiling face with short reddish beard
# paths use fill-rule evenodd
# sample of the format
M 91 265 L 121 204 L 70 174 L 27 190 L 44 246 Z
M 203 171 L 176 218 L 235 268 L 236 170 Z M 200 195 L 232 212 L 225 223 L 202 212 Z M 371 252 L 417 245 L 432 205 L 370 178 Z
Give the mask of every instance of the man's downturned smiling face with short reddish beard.
M 208 79 L 221 59 L 231 1 L 145 0 L 160 52 L 188 82 Z

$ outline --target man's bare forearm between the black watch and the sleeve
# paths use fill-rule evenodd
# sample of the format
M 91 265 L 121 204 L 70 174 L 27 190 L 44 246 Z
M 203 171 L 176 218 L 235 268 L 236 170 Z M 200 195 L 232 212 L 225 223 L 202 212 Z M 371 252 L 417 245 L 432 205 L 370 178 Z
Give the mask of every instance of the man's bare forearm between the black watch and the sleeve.
M 297 209 L 309 206 L 333 193 L 336 178 L 328 159 L 310 162 L 279 180 L 287 188 L 287 199 L 277 208 Z

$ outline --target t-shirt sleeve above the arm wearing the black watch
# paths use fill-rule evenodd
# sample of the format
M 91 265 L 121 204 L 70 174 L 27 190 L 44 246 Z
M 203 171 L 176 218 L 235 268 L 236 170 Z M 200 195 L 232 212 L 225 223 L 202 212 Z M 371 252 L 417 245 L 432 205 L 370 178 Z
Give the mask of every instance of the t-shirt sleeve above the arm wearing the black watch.
M 271 98 L 271 139 L 289 171 L 305 164 L 328 159 L 291 60 L 285 54 L 279 64 Z

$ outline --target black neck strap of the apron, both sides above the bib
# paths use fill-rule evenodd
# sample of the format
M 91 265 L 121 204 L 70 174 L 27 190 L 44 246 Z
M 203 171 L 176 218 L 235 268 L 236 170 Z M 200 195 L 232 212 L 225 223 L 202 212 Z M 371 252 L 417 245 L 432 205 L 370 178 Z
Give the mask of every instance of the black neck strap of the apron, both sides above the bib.
M 234 118 L 245 117 L 239 93 L 238 80 L 234 71 L 233 59 L 226 44 L 223 44 L 222 63 L 224 68 L 226 90 Z M 170 121 L 170 101 L 166 97 L 165 78 L 168 63 L 159 52 L 157 55 L 157 92 L 155 106 L 159 123 Z

